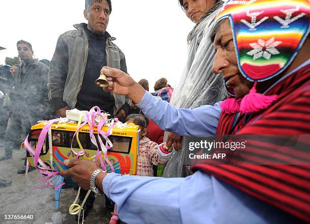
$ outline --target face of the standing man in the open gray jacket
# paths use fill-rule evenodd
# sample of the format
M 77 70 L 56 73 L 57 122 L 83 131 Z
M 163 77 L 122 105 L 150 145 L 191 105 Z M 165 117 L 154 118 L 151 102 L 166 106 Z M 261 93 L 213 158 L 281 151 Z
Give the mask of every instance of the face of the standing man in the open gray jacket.
M 106 0 L 94 1 L 89 12 L 84 10 L 84 17 L 88 20 L 87 28 L 99 34 L 105 32 L 109 23 L 109 16 L 109 4 Z

